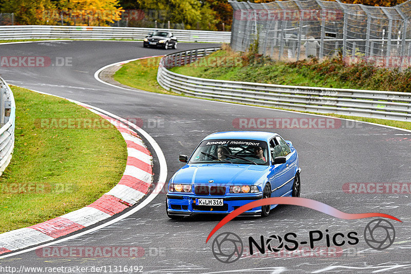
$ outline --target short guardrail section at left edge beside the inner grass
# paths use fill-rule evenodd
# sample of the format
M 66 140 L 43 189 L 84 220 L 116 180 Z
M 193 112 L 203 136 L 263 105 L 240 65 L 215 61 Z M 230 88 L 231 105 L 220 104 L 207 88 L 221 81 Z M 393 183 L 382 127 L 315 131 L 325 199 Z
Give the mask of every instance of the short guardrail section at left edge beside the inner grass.
M 0 175 L 10 163 L 14 149 L 14 125 L 16 104 L 13 92 L 0 77 Z

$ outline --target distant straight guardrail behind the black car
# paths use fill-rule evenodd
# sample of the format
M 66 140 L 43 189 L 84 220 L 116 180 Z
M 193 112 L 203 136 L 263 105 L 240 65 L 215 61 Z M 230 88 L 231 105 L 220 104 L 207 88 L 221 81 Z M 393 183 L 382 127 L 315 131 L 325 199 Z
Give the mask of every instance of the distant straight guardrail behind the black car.
M 228 31 L 82 26 L 0 26 L 0 40 L 142 40 L 147 36 L 147 33 L 155 30 L 171 31 L 179 42 L 230 43 L 231 39 L 231 32 Z

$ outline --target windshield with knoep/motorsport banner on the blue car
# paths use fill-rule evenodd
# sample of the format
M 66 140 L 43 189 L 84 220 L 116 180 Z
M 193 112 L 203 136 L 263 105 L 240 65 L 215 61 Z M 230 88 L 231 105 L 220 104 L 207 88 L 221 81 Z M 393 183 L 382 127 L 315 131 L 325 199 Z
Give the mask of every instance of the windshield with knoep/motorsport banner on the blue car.
M 268 165 L 267 143 L 259 140 L 214 139 L 202 141 L 189 163 Z

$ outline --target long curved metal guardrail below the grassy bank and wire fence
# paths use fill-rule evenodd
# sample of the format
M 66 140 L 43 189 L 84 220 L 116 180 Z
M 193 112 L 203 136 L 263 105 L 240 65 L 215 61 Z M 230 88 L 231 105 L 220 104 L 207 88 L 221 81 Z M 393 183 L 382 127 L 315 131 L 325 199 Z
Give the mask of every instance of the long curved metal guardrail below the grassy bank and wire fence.
M 411 121 L 411 95 L 407 93 L 213 80 L 185 76 L 167 69 L 189 64 L 218 49 L 167 54 L 158 67 L 158 83 L 166 90 L 200 98 L 294 111 Z

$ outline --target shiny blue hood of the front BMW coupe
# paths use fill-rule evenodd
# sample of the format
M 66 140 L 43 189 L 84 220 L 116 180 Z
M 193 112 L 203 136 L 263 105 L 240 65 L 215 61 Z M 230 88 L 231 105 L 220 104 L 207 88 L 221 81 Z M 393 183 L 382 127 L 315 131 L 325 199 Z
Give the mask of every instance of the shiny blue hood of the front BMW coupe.
M 174 175 L 174 183 L 179 184 L 238 184 L 255 183 L 269 169 L 269 166 L 202 164 L 186 165 Z

